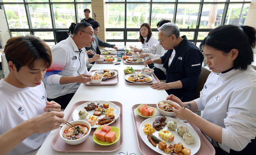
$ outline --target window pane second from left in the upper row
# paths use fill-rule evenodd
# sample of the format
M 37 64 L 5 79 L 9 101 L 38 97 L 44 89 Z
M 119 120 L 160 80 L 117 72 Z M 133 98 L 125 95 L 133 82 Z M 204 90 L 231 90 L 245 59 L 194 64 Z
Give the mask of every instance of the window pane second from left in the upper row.
M 52 18 L 48 4 L 30 4 L 28 5 L 32 28 L 50 29 L 52 28 Z

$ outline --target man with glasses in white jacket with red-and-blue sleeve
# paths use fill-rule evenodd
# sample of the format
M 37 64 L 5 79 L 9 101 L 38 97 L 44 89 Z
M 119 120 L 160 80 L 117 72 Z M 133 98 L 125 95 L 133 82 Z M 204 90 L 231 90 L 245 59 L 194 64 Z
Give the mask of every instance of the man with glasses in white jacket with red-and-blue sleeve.
M 73 35 L 51 48 L 52 65 L 43 79 L 48 101 L 55 101 L 61 108 L 66 108 L 80 83 L 91 81 L 86 64 L 96 61 L 100 56 L 96 54 L 87 59 L 84 47 L 90 47 L 93 41 L 91 24 L 81 22 L 74 27 Z

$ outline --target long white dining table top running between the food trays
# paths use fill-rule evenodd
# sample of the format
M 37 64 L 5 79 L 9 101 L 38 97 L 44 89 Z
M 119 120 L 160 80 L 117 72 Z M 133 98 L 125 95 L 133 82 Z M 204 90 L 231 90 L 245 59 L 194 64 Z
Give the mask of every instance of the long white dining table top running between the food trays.
M 72 105 L 79 101 L 117 101 L 122 103 L 122 115 L 123 115 L 123 145 L 122 147 L 111 153 L 103 153 L 104 155 L 116 155 L 119 152 L 128 151 L 130 153 L 135 153 L 136 155 L 142 155 L 138 148 L 134 122 L 132 117 L 132 106 L 135 104 L 157 104 L 161 100 L 165 100 L 168 96 L 165 90 L 156 90 L 150 88 L 150 85 L 128 85 L 124 79 L 124 68 L 132 67 L 134 69 L 141 69 L 144 65 L 126 65 L 121 61 L 120 65 L 113 64 L 97 64 L 95 63 L 91 70 L 99 69 L 116 69 L 118 70 L 119 83 L 116 85 L 106 85 L 106 86 L 87 86 L 81 84 L 74 96 L 72 97 L 69 105 L 64 110 L 64 114 L 70 113 Z M 52 130 L 45 142 L 37 152 L 37 155 L 102 155 L 102 153 L 65 153 L 58 152 L 52 149 L 51 142 L 57 133 L 58 129 Z M 86 141 L 93 142 L 93 138 L 90 137 Z M 100 147 L 100 145 L 99 145 Z M 109 146 L 111 147 L 111 146 Z M 153 153 L 153 152 L 152 152 Z

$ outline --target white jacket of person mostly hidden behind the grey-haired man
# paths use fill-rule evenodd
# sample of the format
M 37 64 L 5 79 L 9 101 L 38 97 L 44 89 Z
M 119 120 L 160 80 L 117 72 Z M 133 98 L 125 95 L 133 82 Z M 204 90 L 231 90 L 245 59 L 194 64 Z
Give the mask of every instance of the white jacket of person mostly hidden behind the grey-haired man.
M 165 54 L 166 52 L 167 50 L 163 49 L 159 41 L 158 43 L 152 45 L 152 47 L 141 50 L 141 53 L 149 53 L 150 59 L 159 58 L 160 56 L 163 56 L 163 54 Z M 166 69 L 163 67 L 163 64 L 154 63 L 154 66 L 161 69 L 166 74 Z

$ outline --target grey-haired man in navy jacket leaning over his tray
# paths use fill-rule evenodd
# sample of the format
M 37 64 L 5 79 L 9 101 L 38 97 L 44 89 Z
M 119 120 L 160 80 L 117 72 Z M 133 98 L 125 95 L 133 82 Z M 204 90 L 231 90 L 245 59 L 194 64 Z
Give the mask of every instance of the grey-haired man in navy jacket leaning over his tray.
M 204 57 L 186 36 L 180 36 L 180 30 L 174 23 L 165 23 L 158 30 L 160 45 L 168 51 L 160 58 L 147 59 L 145 65 L 164 64 L 166 83 L 154 83 L 151 87 L 165 89 L 169 95 L 179 97 L 182 102 L 191 101 L 195 97 Z

